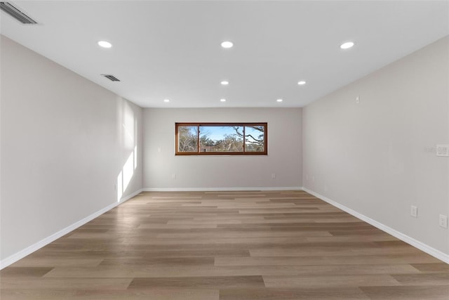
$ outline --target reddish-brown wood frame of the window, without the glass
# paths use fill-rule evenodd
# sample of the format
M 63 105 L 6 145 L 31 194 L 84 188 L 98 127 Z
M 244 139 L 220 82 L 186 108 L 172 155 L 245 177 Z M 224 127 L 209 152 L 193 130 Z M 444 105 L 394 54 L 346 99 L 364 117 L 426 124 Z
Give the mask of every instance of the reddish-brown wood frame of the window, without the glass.
M 180 152 L 179 151 L 179 131 L 180 126 L 197 126 L 197 142 L 195 152 Z M 201 126 L 242 126 L 243 127 L 243 151 L 236 152 L 201 152 L 200 149 L 200 127 Z M 263 126 L 264 127 L 264 150 L 263 151 L 245 151 L 246 139 L 245 139 L 245 126 Z M 175 123 L 175 155 L 268 155 L 268 123 L 267 122 L 251 122 L 251 123 Z

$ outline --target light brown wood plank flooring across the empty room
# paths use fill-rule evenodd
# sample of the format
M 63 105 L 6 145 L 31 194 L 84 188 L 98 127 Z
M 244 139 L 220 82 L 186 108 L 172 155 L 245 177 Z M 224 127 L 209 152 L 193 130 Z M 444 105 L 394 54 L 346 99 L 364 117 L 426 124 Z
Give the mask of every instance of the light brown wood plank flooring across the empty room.
M 303 191 L 141 193 L 0 272 L 7 299 L 449 299 L 449 265 Z

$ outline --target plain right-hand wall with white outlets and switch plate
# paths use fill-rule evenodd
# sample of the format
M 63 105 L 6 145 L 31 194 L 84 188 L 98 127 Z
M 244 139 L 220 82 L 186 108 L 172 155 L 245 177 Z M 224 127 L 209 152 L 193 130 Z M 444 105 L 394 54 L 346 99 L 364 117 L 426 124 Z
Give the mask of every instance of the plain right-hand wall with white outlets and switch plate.
M 449 230 L 438 215 L 449 213 L 449 157 L 436 157 L 435 147 L 449 144 L 448 42 L 303 110 L 304 188 L 444 254 Z

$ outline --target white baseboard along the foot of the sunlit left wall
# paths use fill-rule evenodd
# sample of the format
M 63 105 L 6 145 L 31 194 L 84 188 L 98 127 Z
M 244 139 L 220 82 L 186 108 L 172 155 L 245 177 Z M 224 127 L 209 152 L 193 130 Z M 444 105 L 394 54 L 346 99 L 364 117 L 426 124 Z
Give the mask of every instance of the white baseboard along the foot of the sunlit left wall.
M 76 228 L 79 228 L 80 226 L 83 226 L 84 224 L 92 221 L 93 219 L 97 218 L 98 216 L 105 214 L 105 212 L 113 209 L 114 207 L 117 207 L 118 205 L 122 204 L 123 202 L 126 202 L 130 200 L 135 195 L 138 195 L 142 193 L 142 189 L 136 191 L 135 193 L 132 193 L 130 195 L 127 195 L 126 197 L 122 197 L 119 202 L 115 202 L 112 204 L 109 204 L 107 207 L 100 209 L 99 211 L 96 211 L 95 213 L 91 214 L 90 216 L 86 216 L 86 218 L 81 219 L 80 221 L 77 221 L 73 223 L 70 226 L 67 226 L 66 228 L 58 231 L 57 233 L 53 233 L 53 235 L 50 235 L 43 240 L 40 240 L 39 242 L 36 242 L 35 244 L 32 244 L 31 246 L 20 250 L 19 252 L 6 257 L 6 259 L 3 259 L 0 261 L 0 270 L 3 268 L 6 268 L 7 266 L 15 263 L 16 261 L 23 259 L 25 256 L 32 254 L 36 250 L 41 249 L 42 247 L 46 246 L 47 244 L 50 244 L 51 242 L 58 240 L 58 238 L 67 235 L 67 233 L 70 233 L 71 231 L 75 230 Z

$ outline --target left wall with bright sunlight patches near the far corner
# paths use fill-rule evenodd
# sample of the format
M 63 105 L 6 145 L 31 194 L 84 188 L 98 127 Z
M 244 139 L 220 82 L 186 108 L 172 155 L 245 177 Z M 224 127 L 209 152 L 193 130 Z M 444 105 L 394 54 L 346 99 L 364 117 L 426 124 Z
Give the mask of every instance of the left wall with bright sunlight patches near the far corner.
M 2 261 L 142 188 L 142 108 L 3 36 L 0 96 Z

